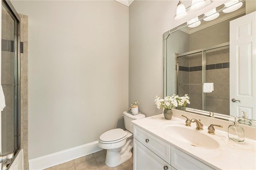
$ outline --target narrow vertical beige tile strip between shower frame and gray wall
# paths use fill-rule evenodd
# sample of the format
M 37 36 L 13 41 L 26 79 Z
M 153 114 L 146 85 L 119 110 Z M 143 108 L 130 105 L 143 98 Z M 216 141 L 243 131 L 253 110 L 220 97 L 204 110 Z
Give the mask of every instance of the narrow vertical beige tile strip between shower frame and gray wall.
M 20 42 L 23 42 L 23 53 L 20 54 L 20 139 L 24 151 L 24 170 L 28 170 L 28 16 L 19 16 Z

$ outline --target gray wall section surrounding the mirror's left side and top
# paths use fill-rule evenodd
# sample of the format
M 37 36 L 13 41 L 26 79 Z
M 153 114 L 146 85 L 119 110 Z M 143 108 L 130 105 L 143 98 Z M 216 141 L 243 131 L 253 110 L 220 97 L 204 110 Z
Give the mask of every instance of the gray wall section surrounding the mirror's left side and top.
M 191 0 L 185 0 L 185 6 Z M 174 20 L 177 1 L 135 0 L 129 7 L 129 103 L 140 102 L 140 111 L 152 116 L 162 111 L 154 98 L 163 97 L 163 34 L 192 18 L 227 2 L 214 1 L 211 5 L 182 20 Z

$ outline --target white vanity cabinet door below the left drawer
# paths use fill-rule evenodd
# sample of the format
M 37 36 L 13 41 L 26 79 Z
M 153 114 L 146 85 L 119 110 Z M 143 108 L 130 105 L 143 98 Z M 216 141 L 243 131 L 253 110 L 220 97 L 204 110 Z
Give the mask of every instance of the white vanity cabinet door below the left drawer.
M 171 170 L 171 166 L 134 138 L 134 170 Z

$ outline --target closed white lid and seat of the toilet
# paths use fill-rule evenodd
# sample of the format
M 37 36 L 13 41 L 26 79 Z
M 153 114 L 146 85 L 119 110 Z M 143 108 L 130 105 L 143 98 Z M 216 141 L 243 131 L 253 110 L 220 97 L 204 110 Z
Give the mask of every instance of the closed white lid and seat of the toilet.
M 115 128 L 112 130 L 108 130 L 102 135 L 100 135 L 100 140 L 104 143 L 119 142 L 121 140 L 124 140 L 126 137 L 127 137 L 127 132 L 125 132 L 121 128 Z

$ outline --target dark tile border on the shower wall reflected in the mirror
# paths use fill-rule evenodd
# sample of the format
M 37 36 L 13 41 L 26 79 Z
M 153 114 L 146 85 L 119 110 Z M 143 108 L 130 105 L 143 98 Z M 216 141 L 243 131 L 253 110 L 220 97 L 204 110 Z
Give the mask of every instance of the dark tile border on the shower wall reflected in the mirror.
M 228 63 L 217 63 L 217 64 L 209 64 L 206 65 L 206 70 L 212 70 L 212 69 L 224 69 L 229 68 L 229 62 Z M 179 66 L 179 71 L 202 71 L 202 65 L 195 66 L 195 67 L 184 67 Z

